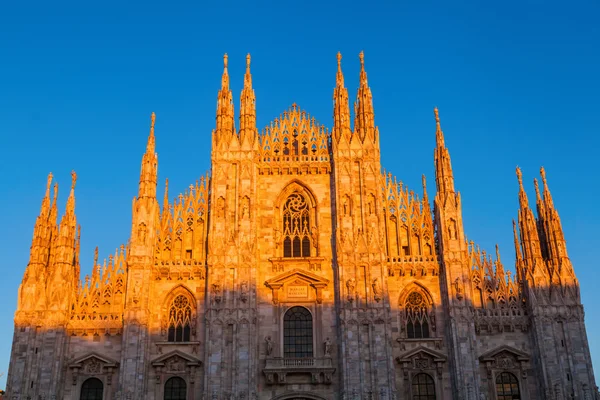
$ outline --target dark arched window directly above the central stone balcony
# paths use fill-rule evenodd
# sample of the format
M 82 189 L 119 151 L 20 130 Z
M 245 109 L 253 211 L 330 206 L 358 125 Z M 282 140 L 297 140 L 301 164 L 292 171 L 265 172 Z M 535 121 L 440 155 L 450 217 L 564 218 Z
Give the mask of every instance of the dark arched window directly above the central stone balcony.
M 283 356 L 313 356 L 312 315 L 304 307 L 292 307 L 283 317 Z

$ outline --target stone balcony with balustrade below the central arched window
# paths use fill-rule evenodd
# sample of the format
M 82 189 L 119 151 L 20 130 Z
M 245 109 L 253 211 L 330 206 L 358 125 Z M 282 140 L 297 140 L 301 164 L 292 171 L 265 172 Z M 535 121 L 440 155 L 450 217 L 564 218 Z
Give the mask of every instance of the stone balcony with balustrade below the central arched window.
M 268 385 L 285 384 L 288 375 L 305 375 L 313 384 L 331 384 L 334 372 L 335 368 L 331 357 L 267 358 L 263 369 Z

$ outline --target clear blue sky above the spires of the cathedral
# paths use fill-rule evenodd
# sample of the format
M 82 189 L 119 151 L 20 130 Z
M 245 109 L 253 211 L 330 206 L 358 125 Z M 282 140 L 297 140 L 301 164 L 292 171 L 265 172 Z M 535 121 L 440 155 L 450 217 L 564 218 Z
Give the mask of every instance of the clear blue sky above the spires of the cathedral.
M 331 126 L 336 53 L 353 100 L 364 50 L 384 168 L 417 192 L 425 173 L 432 196 L 438 106 L 466 234 L 489 251 L 498 243 L 511 267 L 515 166 L 530 197 L 545 166 L 600 373 L 600 3 L 135 3 L 0 9 L 0 372 L 48 172 L 62 213 L 77 171 L 89 273 L 95 246 L 102 258 L 127 241 L 152 111 L 159 179 L 169 178 L 171 194 L 209 168 L 223 53 L 236 107 L 252 54 L 259 126 L 293 102 Z

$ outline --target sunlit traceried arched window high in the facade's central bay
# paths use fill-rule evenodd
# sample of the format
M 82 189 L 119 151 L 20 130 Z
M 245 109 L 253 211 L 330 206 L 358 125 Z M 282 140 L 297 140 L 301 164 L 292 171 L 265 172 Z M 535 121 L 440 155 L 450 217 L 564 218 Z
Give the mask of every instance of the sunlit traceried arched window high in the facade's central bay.
M 292 193 L 283 207 L 283 256 L 310 257 L 310 208 L 304 196 Z

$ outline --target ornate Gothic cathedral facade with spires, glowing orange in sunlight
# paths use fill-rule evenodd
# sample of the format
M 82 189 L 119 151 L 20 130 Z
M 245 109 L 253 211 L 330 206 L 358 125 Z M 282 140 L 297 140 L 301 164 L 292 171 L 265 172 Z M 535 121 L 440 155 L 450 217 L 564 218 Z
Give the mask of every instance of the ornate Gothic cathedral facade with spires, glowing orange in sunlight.
M 76 175 L 60 222 L 50 175 L 7 398 L 595 399 L 544 170 L 530 205 L 517 169 L 511 275 L 465 238 L 437 109 L 432 198 L 382 173 L 360 63 L 352 126 L 338 54 L 332 129 L 294 104 L 259 133 L 225 56 L 210 173 L 159 203 L 152 114 L 131 236 L 83 282 Z

